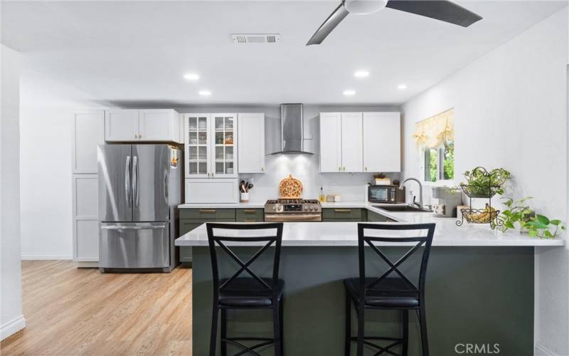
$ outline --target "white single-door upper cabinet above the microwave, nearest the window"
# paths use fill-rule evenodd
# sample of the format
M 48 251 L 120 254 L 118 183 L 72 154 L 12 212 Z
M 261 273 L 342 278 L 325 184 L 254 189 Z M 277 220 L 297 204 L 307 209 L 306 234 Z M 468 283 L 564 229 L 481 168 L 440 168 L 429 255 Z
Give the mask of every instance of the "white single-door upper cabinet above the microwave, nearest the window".
M 400 172 L 399 112 L 363 112 L 364 172 Z

